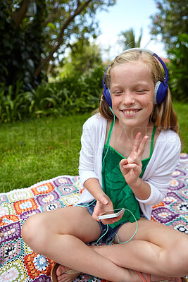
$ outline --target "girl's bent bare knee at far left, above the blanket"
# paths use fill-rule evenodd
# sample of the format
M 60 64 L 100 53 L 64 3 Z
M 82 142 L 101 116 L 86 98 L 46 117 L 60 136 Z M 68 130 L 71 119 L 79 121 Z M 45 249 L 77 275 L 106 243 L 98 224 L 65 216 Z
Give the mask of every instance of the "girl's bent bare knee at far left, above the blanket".
M 32 250 L 41 254 L 46 244 L 46 224 L 41 214 L 30 216 L 23 223 L 21 235 L 25 244 L 30 246 Z

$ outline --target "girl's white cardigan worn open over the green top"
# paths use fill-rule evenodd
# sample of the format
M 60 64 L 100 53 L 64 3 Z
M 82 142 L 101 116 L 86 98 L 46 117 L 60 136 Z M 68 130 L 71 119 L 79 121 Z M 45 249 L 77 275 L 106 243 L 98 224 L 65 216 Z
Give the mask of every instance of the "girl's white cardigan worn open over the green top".
M 96 178 L 102 187 L 102 154 L 106 138 L 107 121 L 96 114 L 83 125 L 80 151 L 79 175 L 80 181 Z M 146 200 L 140 200 L 139 206 L 144 215 L 151 219 L 152 206 L 163 200 L 170 185 L 171 174 L 180 159 L 181 142 L 173 130 L 162 130 L 159 134 L 153 154 L 146 166 L 142 180 L 149 183 L 151 195 Z M 94 197 L 87 189 L 82 192 L 79 203 L 90 202 Z

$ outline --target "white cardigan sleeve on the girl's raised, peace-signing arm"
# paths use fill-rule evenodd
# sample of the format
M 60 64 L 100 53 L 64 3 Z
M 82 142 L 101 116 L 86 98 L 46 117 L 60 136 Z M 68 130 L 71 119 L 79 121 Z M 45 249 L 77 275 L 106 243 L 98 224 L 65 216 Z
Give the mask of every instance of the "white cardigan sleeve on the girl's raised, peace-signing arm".
M 163 200 L 170 185 L 170 178 L 180 160 L 181 142 L 173 130 L 163 130 L 159 135 L 151 160 L 142 177 L 150 185 L 151 195 L 143 204 L 158 204 Z

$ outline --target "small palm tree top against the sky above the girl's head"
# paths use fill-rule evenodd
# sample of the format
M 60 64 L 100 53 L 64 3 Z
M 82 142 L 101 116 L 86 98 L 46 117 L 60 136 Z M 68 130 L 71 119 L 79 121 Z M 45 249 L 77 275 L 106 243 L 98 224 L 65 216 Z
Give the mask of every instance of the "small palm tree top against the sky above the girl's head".
M 130 30 L 120 32 L 120 39 L 118 41 L 120 44 L 123 45 L 123 49 L 126 50 L 128 48 L 140 47 L 141 39 L 142 39 L 142 29 L 140 31 L 139 39 L 136 41 L 134 30 L 130 28 Z

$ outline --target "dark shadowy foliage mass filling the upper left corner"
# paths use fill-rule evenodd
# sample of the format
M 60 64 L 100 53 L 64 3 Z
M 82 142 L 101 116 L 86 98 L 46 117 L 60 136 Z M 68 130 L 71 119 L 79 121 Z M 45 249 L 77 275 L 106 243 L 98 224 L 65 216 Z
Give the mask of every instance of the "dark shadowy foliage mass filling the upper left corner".
M 8 85 L 15 91 L 17 80 L 23 81 L 23 90 L 31 90 L 42 81 L 42 73 L 36 77 L 34 72 L 44 48 L 45 0 L 36 1 L 37 17 L 25 18 L 19 27 L 13 18 L 18 1 L 0 2 L 0 77 L 6 86 L 4 94 L 8 94 Z

